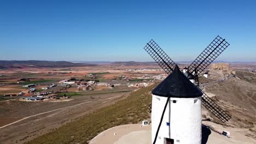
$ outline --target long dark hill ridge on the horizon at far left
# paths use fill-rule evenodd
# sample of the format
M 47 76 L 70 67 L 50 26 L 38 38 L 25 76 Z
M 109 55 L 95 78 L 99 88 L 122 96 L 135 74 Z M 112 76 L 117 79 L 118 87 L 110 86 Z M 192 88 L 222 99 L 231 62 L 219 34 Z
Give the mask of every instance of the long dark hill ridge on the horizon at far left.
M 85 67 L 96 64 L 72 63 L 66 61 L 0 61 L 0 69 L 10 68 L 65 68 L 65 67 Z

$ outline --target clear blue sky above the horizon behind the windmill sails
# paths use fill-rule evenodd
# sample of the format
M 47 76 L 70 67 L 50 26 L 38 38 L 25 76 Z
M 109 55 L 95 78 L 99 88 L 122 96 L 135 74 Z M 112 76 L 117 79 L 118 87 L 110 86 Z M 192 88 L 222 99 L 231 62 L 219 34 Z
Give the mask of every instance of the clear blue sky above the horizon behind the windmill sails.
M 2 60 L 153 61 L 154 39 L 191 61 L 217 35 L 218 60 L 256 61 L 256 1 L 0 1 Z

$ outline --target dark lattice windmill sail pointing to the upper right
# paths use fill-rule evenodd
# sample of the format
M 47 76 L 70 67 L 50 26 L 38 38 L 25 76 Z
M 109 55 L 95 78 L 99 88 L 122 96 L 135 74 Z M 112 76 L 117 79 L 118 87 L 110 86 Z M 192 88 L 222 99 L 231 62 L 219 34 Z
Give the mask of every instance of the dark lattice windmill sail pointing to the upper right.
M 225 41 L 219 35 L 212 41 L 210 45 L 206 47 L 205 50 L 192 62 L 189 67 L 188 71 L 193 74 L 195 69 L 197 70 L 197 75 L 202 73 L 213 61 L 216 59 L 220 53 L 222 53 L 226 47 L 229 46 L 229 43 Z

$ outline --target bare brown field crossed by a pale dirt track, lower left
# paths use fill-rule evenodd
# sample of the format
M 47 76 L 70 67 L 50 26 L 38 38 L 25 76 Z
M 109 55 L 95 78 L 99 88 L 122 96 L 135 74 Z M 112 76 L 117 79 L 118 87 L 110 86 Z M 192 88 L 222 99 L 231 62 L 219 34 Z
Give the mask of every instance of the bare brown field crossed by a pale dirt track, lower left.
M 94 97 L 84 95 L 72 97 L 74 100 L 59 103 L 12 100 L 3 101 L 0 103 L 1 126 L 38 113 L 53 111 L 73 105 L 77 106 L 43 113 L 42 115 L 24 119 L 23 121 L 11 124 L 4 128 L 1 128 L 0 126 L 0 143 L 24 143 L 34 139 L 34 137 L 59 128 L 65 123 L 74 121 L 74 119 L 83 116 L 88 112 L 112 104 L 125 94 L 127 93 L 92 95 Z

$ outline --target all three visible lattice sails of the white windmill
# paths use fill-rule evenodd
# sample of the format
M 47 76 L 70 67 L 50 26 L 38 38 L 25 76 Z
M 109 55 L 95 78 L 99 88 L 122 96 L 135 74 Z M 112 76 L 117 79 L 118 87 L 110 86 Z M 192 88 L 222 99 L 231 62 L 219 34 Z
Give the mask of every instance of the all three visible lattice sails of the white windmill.
M 200 74 L 228 46 L 229 44 L 225 41 L 225 39 L 217 36 L 216 39 L 214 39 L 212 43 L 205 49 L 205 51 L 203 51 L 201 55 L 198 56 L 195 61 L 190 64 L 189 68 L 194 68 L 194 70 L 192 70 L 190 73 L 193 73 L 193 71 L 199 69 L 197 74 Z M 170 57 L 166 55 L 166 53 L 158 46 L 158 44 L 155 43 L 154 40 L 150 40 L 149 43 L 144 47 L 144 50 L 149 53 L 149 55 L 160 65 L 162 69 L 164 69 L 167 74 L 172 73 L 176 64 Z M 228 113 L 226 113 L 210 97 L 208 97 L 206 93 L 202 93 L 202 105 L 205 106 L 208 111 L 213 113 L 213 115 L 219 118 L 223 123 L 229 121 L 231 117 L 228 115 Z

